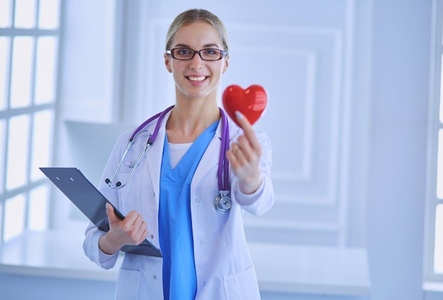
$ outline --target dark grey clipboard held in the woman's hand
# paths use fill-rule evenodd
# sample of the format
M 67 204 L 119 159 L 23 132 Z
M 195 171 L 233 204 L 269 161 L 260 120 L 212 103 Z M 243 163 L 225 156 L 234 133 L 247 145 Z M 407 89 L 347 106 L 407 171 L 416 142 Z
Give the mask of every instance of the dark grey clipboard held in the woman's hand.
M 106 215 L 105 205 L 106 203 L 111 203 L 78 168 L 51 167 L 40 168 L 40 171 L 42 171 L 98 229 L 109 231 L 109 221 Z M 123 216 L 117 208 L 114 207 L 114 211 L 121 220 L 125 219 L 125 216 Z M 154 256 L 156 258 L 162 257 L 160 249 L 148 239 L 145 239 L 137 246 L 123 246 L 120 250 L 125 253 Z

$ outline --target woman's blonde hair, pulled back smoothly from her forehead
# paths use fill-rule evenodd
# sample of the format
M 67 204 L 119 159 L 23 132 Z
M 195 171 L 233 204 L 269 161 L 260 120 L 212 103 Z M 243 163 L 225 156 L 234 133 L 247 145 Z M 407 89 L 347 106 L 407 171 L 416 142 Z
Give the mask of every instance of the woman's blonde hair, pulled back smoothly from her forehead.
M 188 11 L 183 11 L 183 13 L 176 16 L 174 21 L 169 26 L 168 33 L 166 34 L 166 50 L 171 49 L 173 39 L 176 37 L 176 34 L 180 28 L 197 21 L 205 21 L 214 26 L 222 39 L 224 51 L 229 52 L 228 33 L 226 32 L 226 28 L 224 27 L 222 20 L 215 16 L 214 13 L 206 11 L 205 9 L 190 9 Z

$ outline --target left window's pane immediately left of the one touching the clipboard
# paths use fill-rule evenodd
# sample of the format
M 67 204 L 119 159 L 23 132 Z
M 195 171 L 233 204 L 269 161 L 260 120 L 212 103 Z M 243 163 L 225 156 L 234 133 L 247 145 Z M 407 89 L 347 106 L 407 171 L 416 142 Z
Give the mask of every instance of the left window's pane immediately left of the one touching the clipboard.
M 6 151 L 6 189 L 25 185 L 28 178 L 29 115 L 11 117 Z

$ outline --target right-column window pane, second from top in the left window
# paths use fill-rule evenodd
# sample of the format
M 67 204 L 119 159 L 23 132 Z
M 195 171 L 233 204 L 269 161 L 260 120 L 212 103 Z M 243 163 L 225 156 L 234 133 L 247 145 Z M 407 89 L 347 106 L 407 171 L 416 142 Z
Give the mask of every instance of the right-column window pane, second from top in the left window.
M 37 62 L 35 70 L 35 103 L 54 100 L 55 60 L 57 59 L 55 37 L 40 37 L 37 40 Z

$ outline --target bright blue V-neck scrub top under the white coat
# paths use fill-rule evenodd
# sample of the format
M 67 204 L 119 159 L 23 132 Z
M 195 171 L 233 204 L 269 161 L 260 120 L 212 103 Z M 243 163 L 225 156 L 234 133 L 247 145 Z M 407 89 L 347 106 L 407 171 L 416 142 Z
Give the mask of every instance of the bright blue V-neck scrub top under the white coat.
M 219 121 L 207 127 L 195 139 L 174 169 L 171 168 L 165 134 L 160 177 L 159 239 L 163 255 L 163 294 L 167 300 L 193 300 L 197 293 L 190 185 L 218 124 Z

